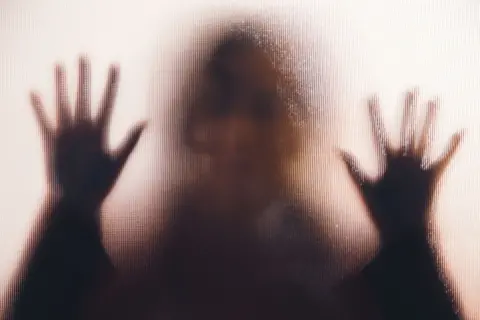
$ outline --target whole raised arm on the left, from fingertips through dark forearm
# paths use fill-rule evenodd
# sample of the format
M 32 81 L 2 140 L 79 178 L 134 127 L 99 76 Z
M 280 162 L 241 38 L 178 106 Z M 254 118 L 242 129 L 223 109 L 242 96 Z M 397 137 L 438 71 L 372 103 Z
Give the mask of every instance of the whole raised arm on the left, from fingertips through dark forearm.
M 90 67 L 80 59 L 74 114 L 65 72 L 56 67 L 57 123 L 52 128 L 37 94 L 32 105 L 40 124 L 50 195 L 36 225 L 36 241 L 18 275 L 8 319 L 76 319 L 96 286 L 112 275 L 99 226 L 100 206 L 113 188 L 144 124 L 136 126 L 118 151 L 107 151 L 108 123 L 118 82 L 111 67 L 100 112 L 90 114 Z M 34 239 L 35 240 L 35 239 Z

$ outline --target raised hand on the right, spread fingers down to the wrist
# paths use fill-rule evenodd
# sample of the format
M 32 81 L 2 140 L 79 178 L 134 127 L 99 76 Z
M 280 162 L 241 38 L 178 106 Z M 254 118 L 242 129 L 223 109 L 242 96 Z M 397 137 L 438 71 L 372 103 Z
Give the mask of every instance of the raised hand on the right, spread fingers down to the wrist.
M 428 102 L 426 121 L 418 145 L 415 146 L 415 130 L 412 127 L 417 96 L 415 91 L 407 93 L 401 146 L 398 149 L 394 149 L 387 138 L 377 99 L 369 101 L 375 144 L 385 160 L 385 172 L 378 181 L 368 179 L 355 158 L 341 152 L 384 242 L 395 240 L 406 233 L 427 231 L 428 211 L 435 187 L 463 136 L 463 131 L 454 134 L 443 156 L 427 166 L 426 155 L 437 105 L 436 101 Z

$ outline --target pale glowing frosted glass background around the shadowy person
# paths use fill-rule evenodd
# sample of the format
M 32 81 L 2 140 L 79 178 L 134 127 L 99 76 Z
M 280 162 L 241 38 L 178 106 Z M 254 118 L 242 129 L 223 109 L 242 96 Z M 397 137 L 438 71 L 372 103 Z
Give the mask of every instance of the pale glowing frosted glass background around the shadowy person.
M 375 174 L 365 98 L 379 94 L 388 128 L 398 140 L 404 91 L 418 85 L 422 99 L 438 95 L 442 109 L 435 156 L 449 135 L 467 128 L 443 180 L 436 222 L 445 269 L 462 308 L 469 318 L 480 319 L 480 4 L 473 0 L 2 1 L 0 288 L 14 271 L 44 192 L 41 141 L 29 90 L 38 89 L 53 114 L 53 63 L 65 62 L 73 95 L 76 59 L 88 53 L 93 99 L 98 101 L 108 64 L 119 62 L 122 80 L 111 130 L 111 143 L 117 145 L 134 122 L 161 112 L 168 103 L 175 85 L 170 79 L 181 70 L 172 61 L 189 45 L 194 23 L 227 9 L 284 13 L 312 46 L 311 70 L 327 75 L 328 86 L 314 88 L 324 90 L 329 102 L 318 102 L 323 121 L 300 177 L 309 190 L 306 197 L 328 212 L 322 223 L 331 230 L 339 253 L 348 249 L 345 270 L 366 263 L 376 249 L 365 209 L 331 152 L 335 145 L 351 150 Z M 105 206 L 106 244 L 114 259 L 120 247 L 135 250 L 133 241 L 144 235 L 153 212 L 147 210 L 152 203 L 147 200 L 162 188 L 156 181 L 168 168 L 162 165 L 162 139 L 154 138 L 164 125 L 152 119 Z M 158 170 L 152 174 L 154 168 Z

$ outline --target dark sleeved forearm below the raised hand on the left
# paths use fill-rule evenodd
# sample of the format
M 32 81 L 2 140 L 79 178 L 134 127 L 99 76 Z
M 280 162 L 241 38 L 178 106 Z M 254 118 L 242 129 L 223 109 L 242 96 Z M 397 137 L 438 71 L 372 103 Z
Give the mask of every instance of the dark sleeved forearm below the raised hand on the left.
M 47 205 L 11 306 L 12 319 L 72 319 L 98 277 L 110 269 L 93 207 L 60 199 Z

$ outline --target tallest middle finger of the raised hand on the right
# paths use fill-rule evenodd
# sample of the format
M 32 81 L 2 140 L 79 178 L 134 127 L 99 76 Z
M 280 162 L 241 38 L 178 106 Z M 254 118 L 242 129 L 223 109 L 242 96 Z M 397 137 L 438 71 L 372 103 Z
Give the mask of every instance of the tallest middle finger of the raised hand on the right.
M 414 109 L 418 91 L 408 92 L 405 97 L 405 107 L 403 110 L 403 120 L 400 128 L 400 149 L 404 154 L 411 154 L 415 145 L 414 127 Z

